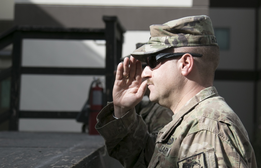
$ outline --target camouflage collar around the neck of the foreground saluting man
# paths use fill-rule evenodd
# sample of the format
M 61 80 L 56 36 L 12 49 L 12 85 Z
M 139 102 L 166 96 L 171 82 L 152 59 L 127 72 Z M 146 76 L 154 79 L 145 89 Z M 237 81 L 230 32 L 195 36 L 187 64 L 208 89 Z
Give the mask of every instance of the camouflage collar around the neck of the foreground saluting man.
M 171 121 L 168 125 L 166 125 L 161 132 L 160 137 L 158 137 L 158 142 L 163 142 L 168 140 L 168 137 L 171 131 L 176 127 L 176 125 L 182 120 L 182 117 L 191 111 L 196 105 L 198 105 L 201 101 L 217 94 L 217 90 L 215 87 L 208 87 L 200 91 L 193 98 L 191 98 L 175 115 L 172 116 L 173 121 Z

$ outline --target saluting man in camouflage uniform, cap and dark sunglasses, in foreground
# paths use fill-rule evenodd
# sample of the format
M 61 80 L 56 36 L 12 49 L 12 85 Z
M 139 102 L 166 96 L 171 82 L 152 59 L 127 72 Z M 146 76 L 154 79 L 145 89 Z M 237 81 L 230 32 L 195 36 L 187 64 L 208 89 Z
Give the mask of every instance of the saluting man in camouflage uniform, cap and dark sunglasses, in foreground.
M 118 65 L 113 103 L 97 117 L 109 155 L 124 167 L 257 167 L 243 124 L 213 87 L 219 47 L 210 18 L 152 25 L 150 33 L 130 64 Z M 140 61 L 148 65 L 143 71 Z M 134 108 L 147 85 L 150 100 L 174 114 L 155 148 Z

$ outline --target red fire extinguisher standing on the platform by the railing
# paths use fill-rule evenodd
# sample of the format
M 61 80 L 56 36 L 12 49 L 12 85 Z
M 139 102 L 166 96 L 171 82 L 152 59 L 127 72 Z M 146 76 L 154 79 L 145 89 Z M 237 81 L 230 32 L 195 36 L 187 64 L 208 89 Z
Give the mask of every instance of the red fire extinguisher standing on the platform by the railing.
M 97 115 L 103 108 L 103 88 L 101 87 L 101 82 L 99 79 L 94 80 L 90 89 L 90 114 L 89 114 L 89 124 L 88 130 L 90 135 L 99 134 L 95 129 L 97 124 Z

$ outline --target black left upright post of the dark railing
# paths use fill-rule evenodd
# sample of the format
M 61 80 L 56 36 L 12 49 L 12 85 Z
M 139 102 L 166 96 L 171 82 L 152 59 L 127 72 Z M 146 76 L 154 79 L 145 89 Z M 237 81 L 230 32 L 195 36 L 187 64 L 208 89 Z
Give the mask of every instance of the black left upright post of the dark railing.
M 11 101 L 9 130 L 18 130 L 19 124 L 19 104 L 20 104 L 20 79 L 21 79 L 21 54 L 22 53 L 22 33 L 17 31 L 13 36 L 13 55 L 11 70 Z

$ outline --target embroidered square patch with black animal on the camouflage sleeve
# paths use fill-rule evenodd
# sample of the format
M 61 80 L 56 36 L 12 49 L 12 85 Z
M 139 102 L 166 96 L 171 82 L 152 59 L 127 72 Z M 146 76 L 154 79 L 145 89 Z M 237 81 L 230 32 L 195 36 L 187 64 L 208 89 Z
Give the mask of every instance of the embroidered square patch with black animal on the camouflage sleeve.
M 191 157 L 182 159 L 177 162 L 178 167 L 186 167 L 186 168 L 205 168 L 205 155 L 203 152 L 193 155 Z

